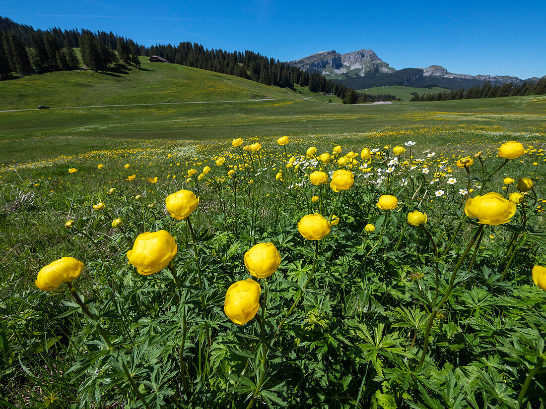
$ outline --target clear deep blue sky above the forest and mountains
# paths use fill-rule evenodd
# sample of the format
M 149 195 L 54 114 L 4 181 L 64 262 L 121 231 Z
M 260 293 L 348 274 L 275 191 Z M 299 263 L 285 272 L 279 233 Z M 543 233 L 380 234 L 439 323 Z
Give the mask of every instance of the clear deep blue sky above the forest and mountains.
M 546 75 L 546 2 L 3 0 L 34 28 L 112 31 L 140 44 L 192 41 L 289 61 L 372 49 L 391 67 Z

